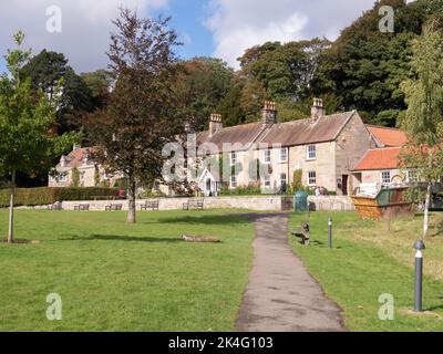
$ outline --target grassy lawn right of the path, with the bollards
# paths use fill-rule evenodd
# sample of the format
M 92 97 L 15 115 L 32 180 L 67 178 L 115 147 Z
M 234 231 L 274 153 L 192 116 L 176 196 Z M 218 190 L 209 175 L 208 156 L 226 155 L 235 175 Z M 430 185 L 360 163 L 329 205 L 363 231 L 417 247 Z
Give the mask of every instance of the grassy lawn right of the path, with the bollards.
M 328 244 L 328 215 L 310 216 L 312 244 L 303 247 L 292 239 L 296 253 L 320 282 L 329 298 L 344 311 L 351 331 L 443 331 L 443 215 L 433 215 L 432 238 L 425 240 L 424 310 L 433 315 L 411 316 L 413 308 L 413 242 L 420 238 L 422 218 L 392 221 L 363 221 L 356 214 L 332 214 L 334 249 Z M 292 215 L 299 229 L 307 216 Z M 381 321 L 381 294 L 395 300 L 395 320 Z

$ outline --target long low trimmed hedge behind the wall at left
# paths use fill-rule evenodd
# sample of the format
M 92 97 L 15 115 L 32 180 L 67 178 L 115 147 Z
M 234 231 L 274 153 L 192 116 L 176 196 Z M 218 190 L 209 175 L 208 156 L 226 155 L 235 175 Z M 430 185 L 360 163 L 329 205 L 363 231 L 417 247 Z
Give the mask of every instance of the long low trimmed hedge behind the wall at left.
M 92 200 L 94 197 L 117 197 L 115 188 L 17 188 L 16 206 L 45 206 L 56 201 Z M 0 189 L 0 208 L 9 206 L 10 190 Z

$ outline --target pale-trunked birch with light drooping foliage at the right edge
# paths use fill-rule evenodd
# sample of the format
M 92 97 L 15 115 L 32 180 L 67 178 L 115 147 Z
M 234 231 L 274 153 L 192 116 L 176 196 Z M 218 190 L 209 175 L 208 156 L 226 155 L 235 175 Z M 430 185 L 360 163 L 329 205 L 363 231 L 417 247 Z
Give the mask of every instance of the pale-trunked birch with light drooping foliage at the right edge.
M 426 237 L 432 186 L 443 176 L 443 33 L 435 21 L 425 25 L 412 50 L 413 77 L 402 84 L 408 112 L 401 127 L 410 139 L 402 165 L 414 168 L 416 179 L 426 185 L 423 221 Z

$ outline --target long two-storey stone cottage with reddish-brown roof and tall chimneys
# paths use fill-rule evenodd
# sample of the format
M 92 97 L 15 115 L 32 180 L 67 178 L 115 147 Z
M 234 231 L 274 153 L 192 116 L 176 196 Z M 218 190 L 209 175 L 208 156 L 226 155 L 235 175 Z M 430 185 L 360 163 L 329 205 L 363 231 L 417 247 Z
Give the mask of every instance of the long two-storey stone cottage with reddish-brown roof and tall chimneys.
M 337 195 L 349 195 L 359 186 L 352 168 L 369 149 L 383 146 L 357 111 L 328 115 L 319 98 L 313 101 L 309 118 L 288 123 L 278 122 L 272 102 L 266 102 L 259 123 L 224 128 L 222 117 L 212 115 L 209 131 L 197 135 L 197 144 L 200 152 L 208 146 L 203 154 L 228 156 L 230 188 L 258 184 L 275 191 L 290 185 L 295 173 L 301 171 L 305 186 L 321 186 Z M 268 166 L 268 174 L 258 180 L 250 178 L 253 160 Z M 237 165 L 243 168 L 234 170 Z M 210 169 L 197 181 L 206 195 L 217 194 L 222 184 Z

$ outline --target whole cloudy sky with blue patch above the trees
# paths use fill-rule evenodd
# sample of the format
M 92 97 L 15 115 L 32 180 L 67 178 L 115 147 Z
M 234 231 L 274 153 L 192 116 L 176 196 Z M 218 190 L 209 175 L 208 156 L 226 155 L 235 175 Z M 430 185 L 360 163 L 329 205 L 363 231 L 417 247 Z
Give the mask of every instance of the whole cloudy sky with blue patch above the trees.
M 172 27 L 184 43 L 177 51 L 181 58 L 217 56 L 238 69 L 236 59 L 246 49 L 267 41 L 315 37 L 334 40 L 373 3 L 374 0 L 1 0 L 0 55 L 3 58 L 13 46 L 12 34 L 23 30 L 23 48 L 31 48 L 34 54 L 42 49 L 62 52 L 79 73 L 105 69 L 111 20 L 123 6 L 141 15 L 172 15 Z M 59 10 L 61 15 L 55 17 Z

